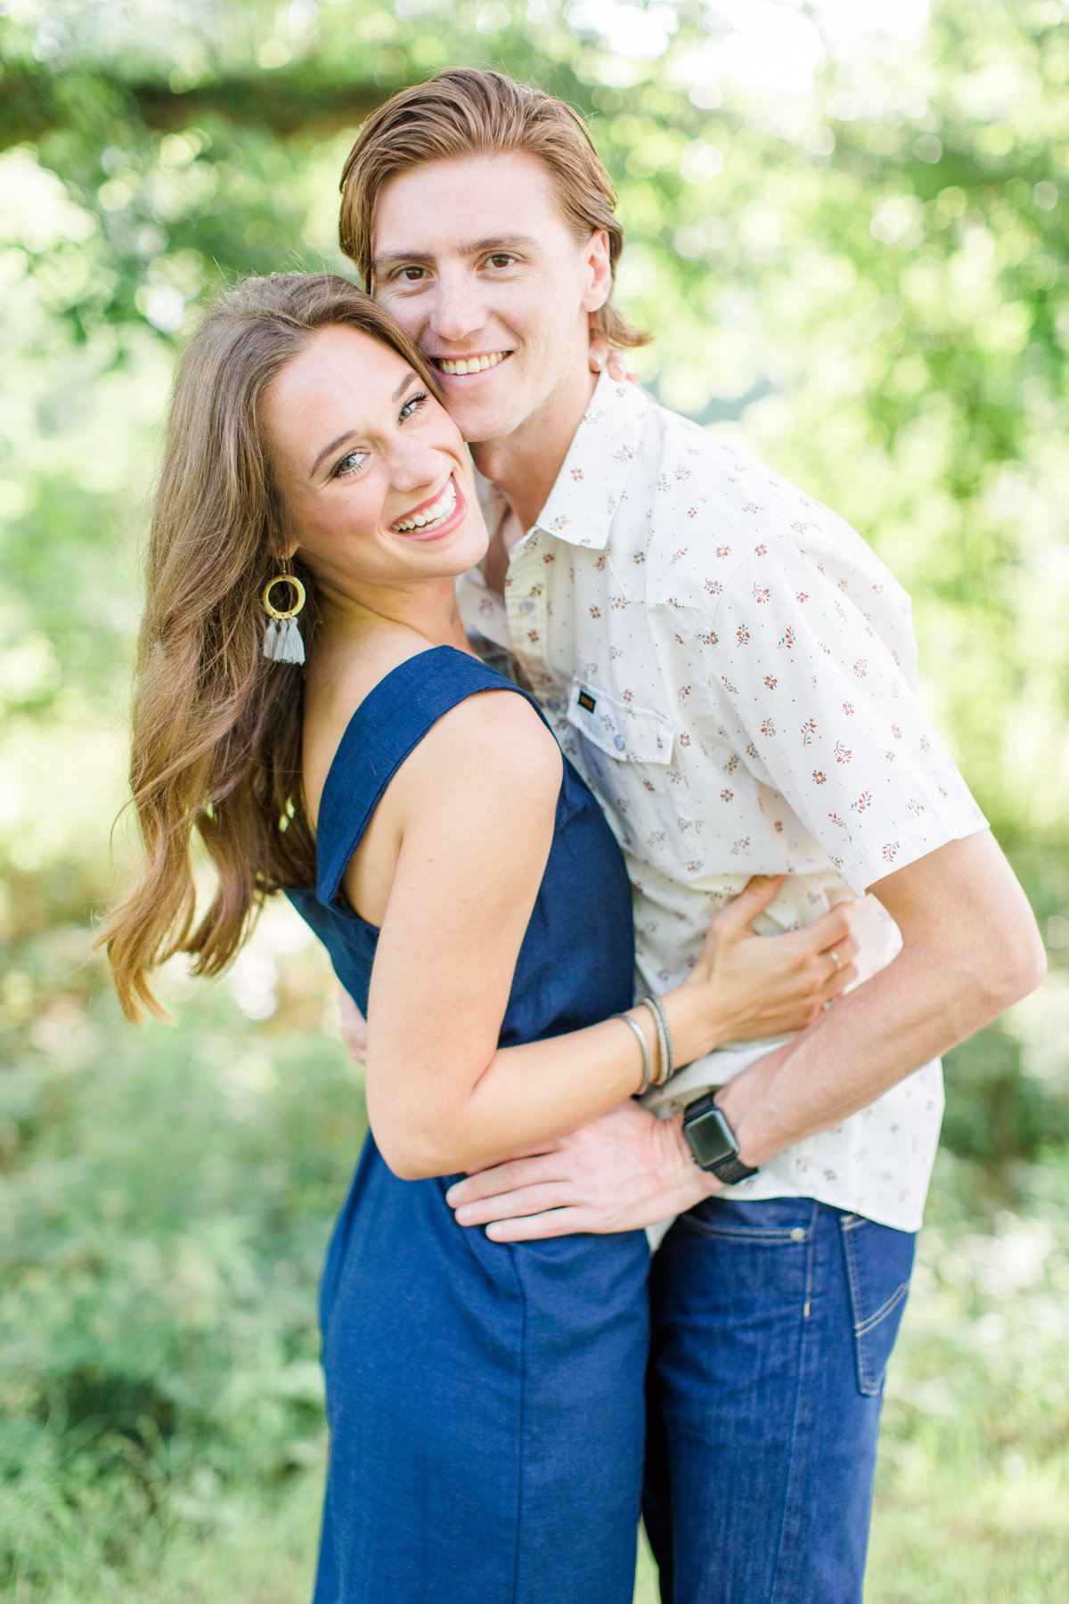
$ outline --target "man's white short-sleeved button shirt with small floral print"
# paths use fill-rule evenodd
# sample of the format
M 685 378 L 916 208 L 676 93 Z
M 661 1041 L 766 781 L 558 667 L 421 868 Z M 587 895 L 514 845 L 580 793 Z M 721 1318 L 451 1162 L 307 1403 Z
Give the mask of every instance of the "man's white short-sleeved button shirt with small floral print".
M 487 486 L 490 516 L 495 497 Z M 511 648 L 615 831 L 639 991 L 686 975 L 752 874 L 789 876 L 764 929 L 797 929 L 986 824 L 917 704 L 910 603 L 883 563 L 633 385 L 598 382 L 505 598 L 471 573 L 460 606 Z M 899 946 L 867 897 L 861 978 Z M 768 1051 L 721 1047 L 647 1102 L 668 1113 Z M 941 1115 L 933 1062 L 729 1193 L 915 1230 Z

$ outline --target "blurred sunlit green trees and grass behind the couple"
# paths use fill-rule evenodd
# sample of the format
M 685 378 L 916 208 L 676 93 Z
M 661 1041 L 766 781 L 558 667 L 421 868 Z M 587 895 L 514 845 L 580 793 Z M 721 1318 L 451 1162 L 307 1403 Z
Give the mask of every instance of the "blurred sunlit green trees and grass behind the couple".
M 915 598 L 923 698 L 1051 975 L 950 1055 L 870 1604 L 1069 1575 L 1069 6 L 2 0 L 0 1577 L 18 1604 L 308 1596 L 319 1258 L 364 1129 L 317 951 L 117 1019 L 112 895 L 160 415 L 221 282 L 346 269 L 364 115 L 452 63 L 591 117 L 665 404 Z M 119 865 L 125 837 L 115 837 Z M 639 1567 L 638 1598 L 652 1601 Z

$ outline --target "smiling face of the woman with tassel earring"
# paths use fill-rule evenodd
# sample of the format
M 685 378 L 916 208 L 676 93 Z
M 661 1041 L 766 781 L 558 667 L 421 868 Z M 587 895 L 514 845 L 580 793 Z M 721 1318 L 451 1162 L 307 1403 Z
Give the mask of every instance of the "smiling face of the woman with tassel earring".
M 293 550 L 322 584 L 446 579 L 486 553 L 460 430 L 391 346 L 317 329 L 268 390 L 264 422 Z

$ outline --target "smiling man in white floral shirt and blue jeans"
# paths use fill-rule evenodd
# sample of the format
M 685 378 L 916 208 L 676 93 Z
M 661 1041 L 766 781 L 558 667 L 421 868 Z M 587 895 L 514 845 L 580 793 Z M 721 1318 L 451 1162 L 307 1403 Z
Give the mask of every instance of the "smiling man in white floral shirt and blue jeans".
M 611 300 L 612 207 L 567 107 L 452 71 L 361 132 L 341 241 L 492 486 L 462 610 L 513 653 L 614 824 L 646 988 L 684 974 L 755 873 L 789 876 L 777 929 L 869 893 L 861 983 L 792 1041 L 684 1068 L 651 1099 L 683 1120 L 628 1104 L 450 1201 L 498 1241 L 681 1216 L 651 1280 L 662 1596 L 848 1604 L 938 1054 L 1039 983 L 1042 946 L 917 706 L 891 574 L 776 475 L 591 379 L 591 327 L 639 340 Z

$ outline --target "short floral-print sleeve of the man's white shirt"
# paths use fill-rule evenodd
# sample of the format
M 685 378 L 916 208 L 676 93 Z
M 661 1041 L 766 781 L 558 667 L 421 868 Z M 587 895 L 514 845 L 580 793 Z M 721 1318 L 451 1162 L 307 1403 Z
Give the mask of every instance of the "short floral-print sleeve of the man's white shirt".
M 716 715 L 857 892 L 984 829 L 898 659 L 821 563 L 760 549 L 716 608 Z M 904 597 L 904 592 L 899 592 Z

